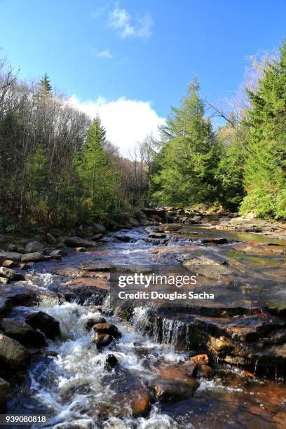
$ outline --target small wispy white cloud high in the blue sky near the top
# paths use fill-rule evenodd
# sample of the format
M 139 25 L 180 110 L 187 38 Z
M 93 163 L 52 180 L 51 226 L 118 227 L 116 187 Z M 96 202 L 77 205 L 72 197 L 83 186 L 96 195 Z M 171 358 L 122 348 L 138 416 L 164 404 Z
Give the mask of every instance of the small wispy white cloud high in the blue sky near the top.
M 118 7 L 114 8 L 114 10 L 109 13 L 108 25 L 116 29 L 122 39 L 126 37 L 148 39 L 151 36 L 153 24 L 154 21 L 149 12 L 139 15 L 136 20 L 132 20 L 128 11 Z

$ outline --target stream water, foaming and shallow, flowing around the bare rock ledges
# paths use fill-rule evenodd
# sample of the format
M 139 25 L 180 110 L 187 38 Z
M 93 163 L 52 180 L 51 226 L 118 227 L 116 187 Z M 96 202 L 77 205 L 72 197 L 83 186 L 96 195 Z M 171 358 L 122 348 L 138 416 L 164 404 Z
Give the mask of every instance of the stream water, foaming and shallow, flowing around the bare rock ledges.
M 217 289 L 215 308 L 276 309 L 285 305 L 283 250 L 286 242 L 283 240 L 210 231 L 203 225 L 184 226 L 180 231 L 167 233 L 165 240 L 150 240 L 151 230 L 138 227 L 116 233 L 128 236 L 129 242 L 109 233 L 88 252 L 68 250 L 69 255 L 62 261 L 35 265 L 28 281 L 45 290 L 63 291 L 62 297 L 53 306 L 15 307 L 13 316 L 23 320 L 27 313 L 45 311 L 60 322 L 61 336 L 48 340 L 45 353 L 34 353 L 29 375 L 15 388 L 13 399 L 8 402 L 8 413 L 46 416 L 46 423 L 31 425 L 32 428 L 285 427 L 286 386 L 279 366 L 276 373 L 268 372 L 267 365 L 264 371 L 254 365 L 249 372 L 244 365 L 230 365 L 215 355 L 211 357 L 214 375 L 210 379 L 198 379 L 199 386 L 193 397 L 173 403 L 153 402 L 147 416 L 132 416 L 130 402 L 138 386 L 151 385 L 162 367 L 178 365 L 200 350 L 193 350 L 191 343 L 186 346 L 177 340 L 182 324 L 175 324 L 176 312 L 171 318 L 165 318 L 163 333 L 161 327 L 160 332 L 152 329 L 150 334 L 145 329 L 150 322 L 148 306 L 133 305 L 132 318 L 126 320 L 122 312 L 111 305 L 108 295 L 104 298 L 102 313 L 94 308 L 98 303 L 93 301 L 92 294 L 76 299 L 74 290 L 84 289 L 85 285 L 101 290 L 108 285 L 108 273 L 102 271 L 101 276 L 83 277 L 83 267 L 90 264 L 179 267 L 182 265 L 179 256 L 183 252 L 203 252 L 226 258 L 233 271 L 226 273 L 222 282 L 229 285 L 229 276 L 239 272 L 243 285 L 247 285 L 247 292 L 241 285 L 231 291 L 227 287 Z M 203 245 L 205 238 L 226 238 L 227 243 Z M 203 277 L 202 287 L 210 285 L 216 290 L 216 281 L 210 275 Z M 202 305 L 196 303 L 196 306 Z M 154 308 L 152 311 L 154 314 Z M 186 307 L 184 318 L 187 312 Z M 101 314 L 118 327 L 122 336 L 116 343 L 98 350 L 86 322 Z M 104 367 L 110 353 L 118 360 L 118 367 L 112 371 Z

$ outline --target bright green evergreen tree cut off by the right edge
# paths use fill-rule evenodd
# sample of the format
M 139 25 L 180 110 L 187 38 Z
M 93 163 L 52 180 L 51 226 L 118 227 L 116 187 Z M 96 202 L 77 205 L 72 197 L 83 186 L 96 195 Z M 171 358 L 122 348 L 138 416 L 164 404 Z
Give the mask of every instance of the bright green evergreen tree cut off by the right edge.
M 286 41 L 280 58 L 266 65 L 257 91 L 248 91 L 247 196 L 240 211 L 286 219 Z

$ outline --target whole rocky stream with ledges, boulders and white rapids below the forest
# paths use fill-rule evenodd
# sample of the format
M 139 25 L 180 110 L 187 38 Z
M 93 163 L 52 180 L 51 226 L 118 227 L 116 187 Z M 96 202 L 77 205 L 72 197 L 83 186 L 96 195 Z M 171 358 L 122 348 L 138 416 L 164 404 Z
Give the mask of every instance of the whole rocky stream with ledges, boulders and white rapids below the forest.
M 0 252 L 1 413 L 46 416 L 18 428 L 285 428 L 286 226 L 146 214 Z M 214 299 L 121 306 L 114 266 L 194 273 Z

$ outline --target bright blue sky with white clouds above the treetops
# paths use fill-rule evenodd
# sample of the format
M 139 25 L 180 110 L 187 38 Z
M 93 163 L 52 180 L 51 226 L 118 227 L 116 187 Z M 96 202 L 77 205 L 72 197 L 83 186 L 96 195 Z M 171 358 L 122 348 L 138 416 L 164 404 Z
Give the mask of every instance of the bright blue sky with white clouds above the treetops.
M 0 46 L 22 79 L 46 71 L 77 107 L 100 111 L 114 140 L 130 111 L 146 115 L 133 118 L 141 134 L 161 123 L 194 75 L 212 102 L 231 97 L 247 56 L 280 45 L 285 17 L 285 0 L 0 0 Z

